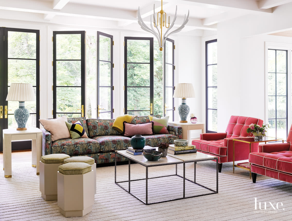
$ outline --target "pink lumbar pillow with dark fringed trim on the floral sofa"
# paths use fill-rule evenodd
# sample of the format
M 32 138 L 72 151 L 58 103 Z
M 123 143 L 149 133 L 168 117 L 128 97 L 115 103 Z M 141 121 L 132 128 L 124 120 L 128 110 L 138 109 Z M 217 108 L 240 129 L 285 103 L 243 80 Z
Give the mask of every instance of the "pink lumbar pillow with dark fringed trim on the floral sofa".
M 140 135 L 153 135 L 153 122 L 130 124 L 124 121 L 124 133 L 126 137 L 131 137 L 136 134 Z

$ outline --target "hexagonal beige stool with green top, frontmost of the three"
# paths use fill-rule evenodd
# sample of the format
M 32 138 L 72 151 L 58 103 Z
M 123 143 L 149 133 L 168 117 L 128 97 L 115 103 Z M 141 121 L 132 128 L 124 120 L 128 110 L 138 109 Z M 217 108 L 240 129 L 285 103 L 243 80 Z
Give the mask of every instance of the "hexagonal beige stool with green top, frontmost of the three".
M 94 203 L 93 170 L 87 163 L 64 163 L 59 166 L 58 206 L 65 217 L 84 216 Z

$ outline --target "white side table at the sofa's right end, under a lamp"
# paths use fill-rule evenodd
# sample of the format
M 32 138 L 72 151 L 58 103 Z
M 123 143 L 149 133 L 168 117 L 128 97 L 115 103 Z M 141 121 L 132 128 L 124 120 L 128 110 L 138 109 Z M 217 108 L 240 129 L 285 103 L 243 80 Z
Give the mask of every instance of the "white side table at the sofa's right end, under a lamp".
M 197 122 L 197 123 L 193 124 L 191 122 L 181 123 L 179 121 L 170 121 L 170 122 L 168 122 L 168 125 L 182 127 L 183 128 L 182 139 L 188 140 L 189 145 L 192 144 L 192 141 L 190 140 L 191 139 L 191 130 L 202 130 L 202 133 L 205 133 L 205 124 L 201 123 L 201 122 Z

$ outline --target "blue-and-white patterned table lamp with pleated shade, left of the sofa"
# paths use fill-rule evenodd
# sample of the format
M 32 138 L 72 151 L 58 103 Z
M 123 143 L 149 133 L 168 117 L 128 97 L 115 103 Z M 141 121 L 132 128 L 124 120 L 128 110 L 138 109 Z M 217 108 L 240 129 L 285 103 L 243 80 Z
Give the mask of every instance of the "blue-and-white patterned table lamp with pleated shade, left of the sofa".
M 25 127 L 29 118 L 29 110 L 24 106 L 25 101 L 35 101 L 34 89 L 32 84 L 11 83 L 6 101 L 19 101 L 19 107 L 14 111 L 14 118 L 18 128 L 16 130 L 27 130 Z

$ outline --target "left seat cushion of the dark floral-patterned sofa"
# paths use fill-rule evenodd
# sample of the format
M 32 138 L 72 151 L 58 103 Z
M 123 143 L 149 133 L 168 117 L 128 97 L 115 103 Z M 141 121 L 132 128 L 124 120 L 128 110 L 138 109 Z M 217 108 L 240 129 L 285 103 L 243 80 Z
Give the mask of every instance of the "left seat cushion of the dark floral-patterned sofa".
M 96 153 L 99 151 L 100 144 L 90 138 L 59 139 L 51 144 L 51 153 L 77 155 L 82 153 Z

